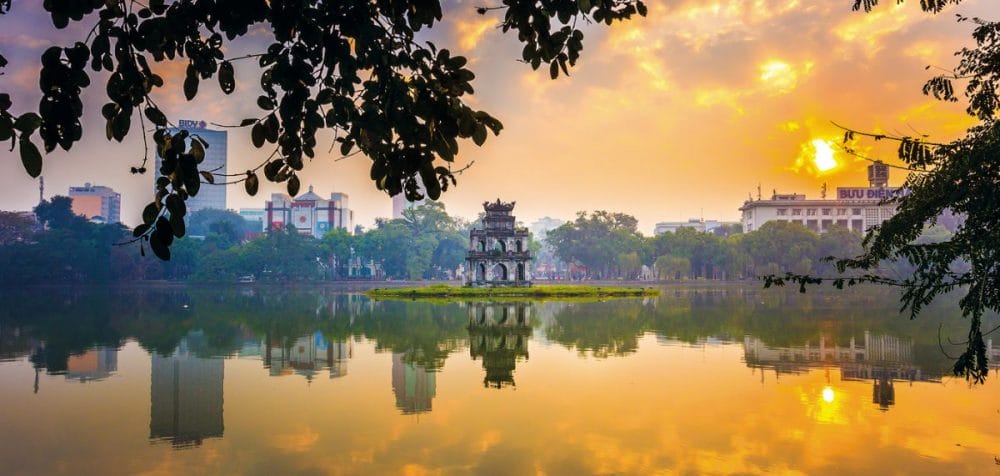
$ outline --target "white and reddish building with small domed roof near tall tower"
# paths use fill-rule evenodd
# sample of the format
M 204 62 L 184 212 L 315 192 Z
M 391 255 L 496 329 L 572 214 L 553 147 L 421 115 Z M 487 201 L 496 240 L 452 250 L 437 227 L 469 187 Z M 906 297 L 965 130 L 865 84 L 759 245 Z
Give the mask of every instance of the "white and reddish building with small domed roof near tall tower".
M 271 231 L 294 227 L 300 234 L 316 238 L 334 228 L 354 232 L 354 212 L 348 208 L 346 193 L 334 192 L 325 199 L 313 192 L 311 186 L 308 192 L 295 198 L 274 193 L 265 203 L 264 213 L 264 223 Z

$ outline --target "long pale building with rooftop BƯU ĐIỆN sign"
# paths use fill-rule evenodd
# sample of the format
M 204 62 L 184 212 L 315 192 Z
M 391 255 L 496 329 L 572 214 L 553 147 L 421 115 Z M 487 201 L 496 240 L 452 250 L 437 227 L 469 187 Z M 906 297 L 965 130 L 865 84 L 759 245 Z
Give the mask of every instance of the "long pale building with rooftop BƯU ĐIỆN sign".
M 759 230 L 769 221 L 799 223 L 818 233 L 837 225 L 864 233 L 896 214 L 896 204 L 890 200 L 908 193 L 899 187 L 887 186 L 889 168 L 881 162 L 868 167 L 868 187 L 838 187 L 836 198 L 807 199 L 790 193 L 771 195 L 768 200 L 747 200 L 740 207 L 743 231 Z

